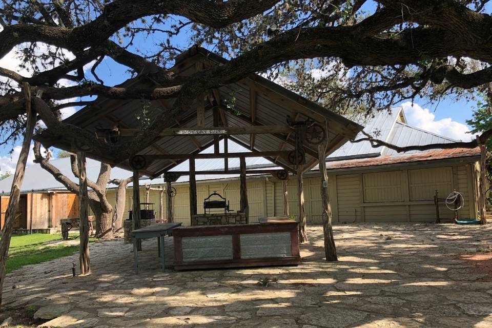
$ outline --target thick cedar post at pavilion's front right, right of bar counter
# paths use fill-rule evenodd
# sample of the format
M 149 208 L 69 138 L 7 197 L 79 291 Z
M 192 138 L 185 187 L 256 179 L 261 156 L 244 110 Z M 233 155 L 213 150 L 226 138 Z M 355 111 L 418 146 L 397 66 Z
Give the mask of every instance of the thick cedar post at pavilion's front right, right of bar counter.
M 328 175 L 326 173 L 326 149 L 325 145 L 318 146 L 319 173 L 321 175 L 321 202 L 324 235 L 324 255 L 326 261 L 338 261 L 337 249 L 335 247 L 335 238 L 333 237 L 332 228 L 332 207 L 328 194 Z

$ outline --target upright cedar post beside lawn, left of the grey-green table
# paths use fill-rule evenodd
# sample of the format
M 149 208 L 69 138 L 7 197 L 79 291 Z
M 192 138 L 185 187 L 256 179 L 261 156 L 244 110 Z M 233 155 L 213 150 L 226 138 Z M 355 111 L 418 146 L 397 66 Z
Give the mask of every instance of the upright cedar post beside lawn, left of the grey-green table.
M 86 153 L 77 152 L 78 200 L 80 216 L 80 273 L 91 273 L 89 254 L 89 196 L 87 194 Z

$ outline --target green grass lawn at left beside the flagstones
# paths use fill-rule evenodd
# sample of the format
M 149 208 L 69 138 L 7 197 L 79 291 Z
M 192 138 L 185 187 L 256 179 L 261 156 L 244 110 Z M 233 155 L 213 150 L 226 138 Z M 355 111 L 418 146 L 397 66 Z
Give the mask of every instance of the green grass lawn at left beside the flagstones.
M 61 234 L 13 235 L 7 259 L 7 273 L 18 270 L 24 265 L 46 262 L 78 252 L 78 243 L 67 244 L 70 240 L 78 239 L 78 235 L 71 234 L 68 241 L 56 245 L 49 244 L 50 241 L 61 239 Z M 97 241 L 97 239 L 89 238 L 89 241 Z

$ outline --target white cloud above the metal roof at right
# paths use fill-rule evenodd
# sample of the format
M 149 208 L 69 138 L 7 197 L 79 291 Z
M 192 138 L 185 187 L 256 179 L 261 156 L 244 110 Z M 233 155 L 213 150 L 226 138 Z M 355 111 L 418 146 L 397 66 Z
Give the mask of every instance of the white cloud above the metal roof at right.
M 401 106 L 410 126 L 455 140 L 469 141 L 472 138 L 471 134 L 467 133 L 470 131 L 468 126 L 450 117 L 436 120 L 436 116 L 427 108 L 422 108 L 415 103 L 412 106 L 411 101 L 406 101 Z

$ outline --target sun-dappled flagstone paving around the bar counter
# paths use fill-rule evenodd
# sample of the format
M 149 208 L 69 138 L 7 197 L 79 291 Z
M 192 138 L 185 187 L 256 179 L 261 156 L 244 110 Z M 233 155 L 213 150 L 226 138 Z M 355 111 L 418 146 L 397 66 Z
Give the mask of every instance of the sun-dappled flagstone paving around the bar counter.
M 298 267 L 185 272 L 162 272 L 146 240 L 138 276 L 131 245 L 105 241 L 91 244 L 90 275 L 72 277 L 78 255 L 9 274 L 4 304 L 38 309 L 42 327 L 491 327 L 492 279 L 459 256 L 492 251 L 491 232 L 340 224 L 340 260 L 325 262 L 322 228 L 309 227 Z

